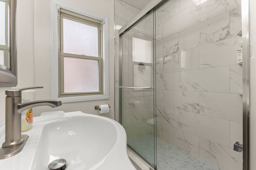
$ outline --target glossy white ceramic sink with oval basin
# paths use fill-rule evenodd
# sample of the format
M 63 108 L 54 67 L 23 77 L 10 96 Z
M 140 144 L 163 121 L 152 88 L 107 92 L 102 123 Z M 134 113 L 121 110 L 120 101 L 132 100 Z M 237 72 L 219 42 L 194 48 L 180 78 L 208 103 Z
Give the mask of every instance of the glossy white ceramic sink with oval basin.
M 48 170 L 50 162 L 63 158 L 66 170 L 135 170 L 124 128 L 106 117 L 82 112 L 35 117 L 34 127 L 22 134 L 30 136 L 24 149 L 0 160 L 0 167 L 16 163 L 19 170 Z

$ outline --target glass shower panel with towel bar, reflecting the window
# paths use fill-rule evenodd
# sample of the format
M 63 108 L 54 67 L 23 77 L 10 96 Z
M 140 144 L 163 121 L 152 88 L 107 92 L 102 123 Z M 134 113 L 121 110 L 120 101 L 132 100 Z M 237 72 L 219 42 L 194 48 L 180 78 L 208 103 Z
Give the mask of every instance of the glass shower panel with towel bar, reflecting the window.
M 156 166 L 153 14 L 120 35 L 120 117 L 128 147 Z

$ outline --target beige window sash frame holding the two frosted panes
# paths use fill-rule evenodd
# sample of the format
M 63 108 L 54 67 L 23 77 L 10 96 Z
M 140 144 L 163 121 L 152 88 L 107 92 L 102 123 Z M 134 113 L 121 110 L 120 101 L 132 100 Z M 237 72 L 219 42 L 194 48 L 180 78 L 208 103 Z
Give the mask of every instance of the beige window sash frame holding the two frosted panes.
M 74 12 L 69 12 L 67 10 L 60 9 L 59 15 L 59 49 L 58 49 L 58 65 L 59 65 L 59 97 L 75 97 L 75 96 L 92 96 L 92 95 L 102 95 L 103 92 L 103 68 L 102 68 L 102 24 L 101 21 L 95 20 L 93 18 L 89 18 L 86 16 L 82 16 L 80 14 L 76 14 Z M 91 25 L 98 28 L 98 57 L 87 56 L 87 55 L 76 55 L 70 53 L 63 53 L 63 18 L 68 20 L 77 21 L 80 23 L 84 23 L 87 25 Z M 99 91 L 96 92 L 72 92 L 65 93 L 64 92 L 64 57 L 74 57 L 80 59 L 89 59 L 89 60 L 97 60 L 99 66 Z

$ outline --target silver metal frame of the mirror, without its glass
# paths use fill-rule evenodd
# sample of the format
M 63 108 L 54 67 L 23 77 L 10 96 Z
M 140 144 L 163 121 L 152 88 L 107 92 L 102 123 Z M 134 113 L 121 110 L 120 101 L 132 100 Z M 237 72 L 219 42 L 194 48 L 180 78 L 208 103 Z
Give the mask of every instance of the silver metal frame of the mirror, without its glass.
M 10 6 L 10 71 L 0 69 L 0 87 L 14 87 L 17 78 L 17 41 L 16 41 L 16 0 L 9 0 Z

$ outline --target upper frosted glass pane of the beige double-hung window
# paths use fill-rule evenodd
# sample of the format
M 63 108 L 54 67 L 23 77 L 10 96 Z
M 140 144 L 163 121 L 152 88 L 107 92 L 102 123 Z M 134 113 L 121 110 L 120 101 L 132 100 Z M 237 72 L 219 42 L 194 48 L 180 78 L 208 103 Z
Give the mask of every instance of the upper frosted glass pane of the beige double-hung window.
M 98 57 L 98 28 L 63 18 L 63 52 Z

